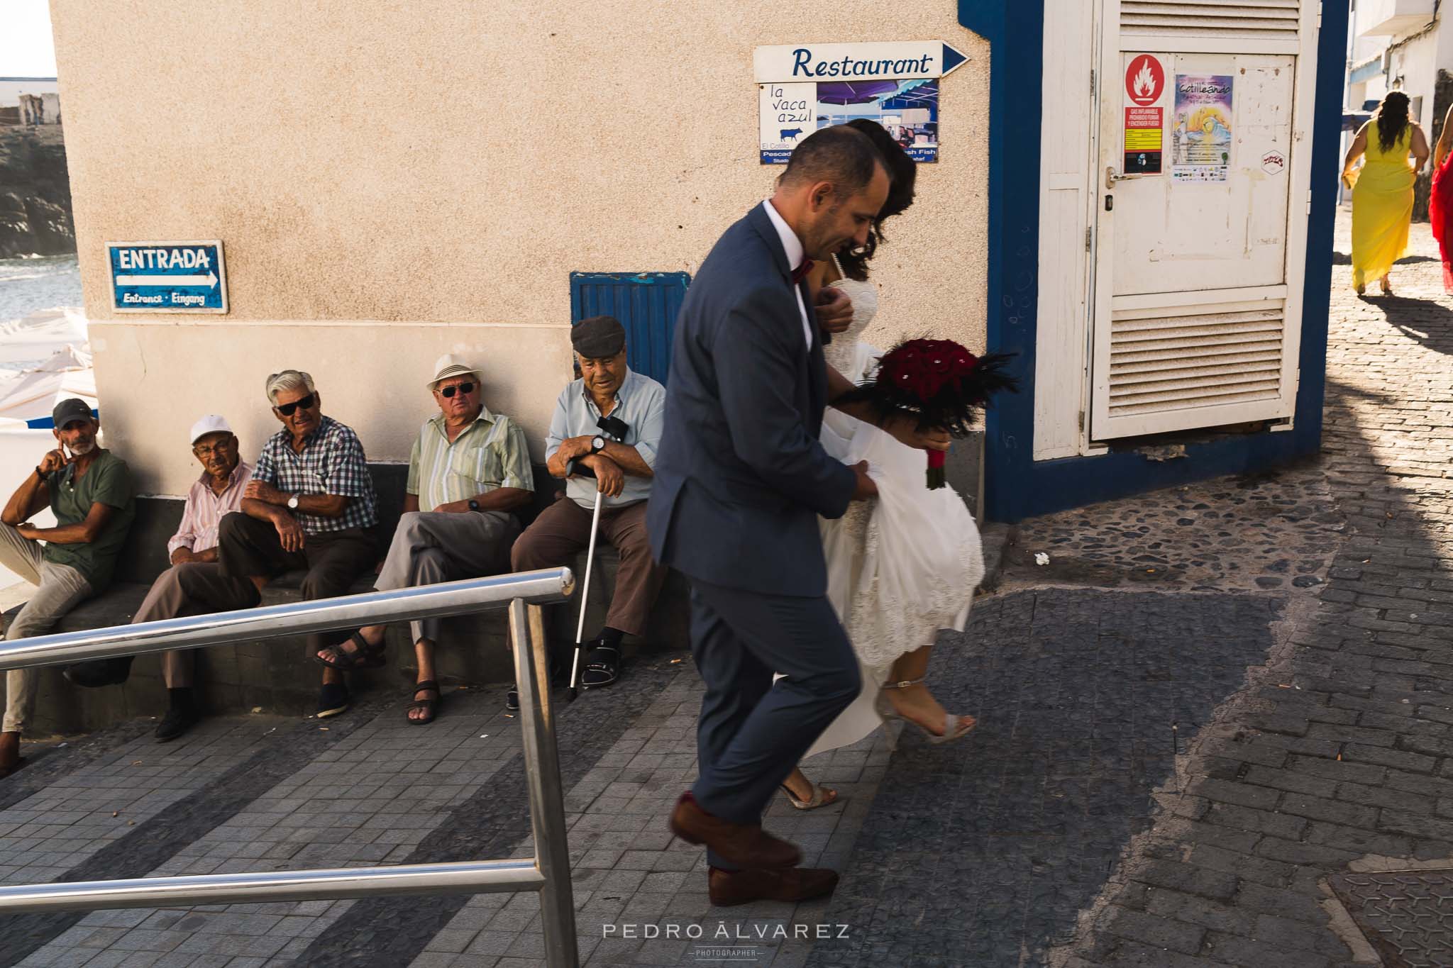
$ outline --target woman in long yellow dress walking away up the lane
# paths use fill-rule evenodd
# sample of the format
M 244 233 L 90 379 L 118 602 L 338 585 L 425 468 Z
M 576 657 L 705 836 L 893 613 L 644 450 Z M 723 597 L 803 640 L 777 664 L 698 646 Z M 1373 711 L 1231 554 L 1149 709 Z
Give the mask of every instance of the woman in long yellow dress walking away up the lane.
M 1361 168 L 1353 168 L 1364 155 Z M 1383 296 L 1392 295 L 1388 273 L 1408 250 L 1412 183 L 1427 160 L 1428 139 L 1408 118 L 1408 96 L 1389 93 L 1343 161 L 1343 184 L 1353 190 L 1353 286 L 1359 296 L 1369 279 L 1382 282 Z

